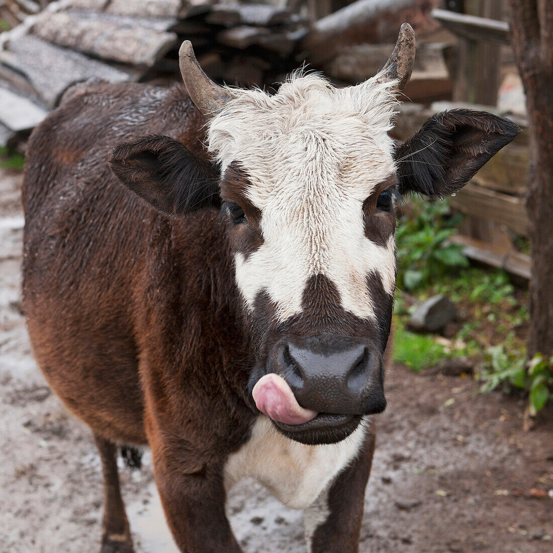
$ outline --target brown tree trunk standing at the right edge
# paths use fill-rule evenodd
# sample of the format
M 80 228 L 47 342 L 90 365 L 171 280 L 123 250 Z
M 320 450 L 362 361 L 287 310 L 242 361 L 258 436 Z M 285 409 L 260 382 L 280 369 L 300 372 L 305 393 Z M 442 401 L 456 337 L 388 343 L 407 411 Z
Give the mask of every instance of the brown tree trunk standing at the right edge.
M 553 354 L 553 7 L 511 0 L 515 55 L 526 92 L 530 166 L 526 208 L 532 253 L 528 353 Z

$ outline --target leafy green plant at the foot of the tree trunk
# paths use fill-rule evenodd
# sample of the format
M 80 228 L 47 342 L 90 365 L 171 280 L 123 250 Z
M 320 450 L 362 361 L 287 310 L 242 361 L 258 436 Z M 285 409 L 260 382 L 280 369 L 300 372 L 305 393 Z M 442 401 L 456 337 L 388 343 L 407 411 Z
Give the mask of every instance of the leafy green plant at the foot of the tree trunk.
M 545 359 L 536 354 L 527 361 L 524 351 L 507 353 L 503 346 L 488 348 L 487 369 L 481 372 L 482 392 L 503 385 L 506 392 L 513 388 L 529 392 L 530 415 L 535 416 L 547 401 L 553 400 L 553 356 Z

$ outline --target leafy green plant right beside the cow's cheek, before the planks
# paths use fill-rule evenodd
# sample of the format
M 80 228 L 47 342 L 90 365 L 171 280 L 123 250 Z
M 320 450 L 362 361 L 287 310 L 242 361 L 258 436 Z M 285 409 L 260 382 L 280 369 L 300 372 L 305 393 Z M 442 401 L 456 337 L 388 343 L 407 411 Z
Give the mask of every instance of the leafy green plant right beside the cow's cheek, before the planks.
M 414 200 L 409 215 L 401 217 L 396 234 L 401 288 L 421 288 L 453 267 L 468 267 L 461 246 L 448 243 L 460 216 L 448 214 L 447 201 Z

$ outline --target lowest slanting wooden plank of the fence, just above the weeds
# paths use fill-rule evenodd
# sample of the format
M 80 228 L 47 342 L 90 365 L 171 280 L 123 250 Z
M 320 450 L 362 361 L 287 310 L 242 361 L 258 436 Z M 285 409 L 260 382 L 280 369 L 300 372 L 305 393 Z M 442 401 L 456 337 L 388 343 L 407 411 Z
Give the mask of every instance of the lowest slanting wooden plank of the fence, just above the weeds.
M 499 267 L 509 273 L 521 276 L 530 280 L 531 278 L 531 258 L 530 255 L 514 251 L 503 251 L 489 246 L 486 242 L 455 234 L 450 237 L 453 244 L 463 246 L 463 253 L 469 258 L 474 259 L 492 267 Z

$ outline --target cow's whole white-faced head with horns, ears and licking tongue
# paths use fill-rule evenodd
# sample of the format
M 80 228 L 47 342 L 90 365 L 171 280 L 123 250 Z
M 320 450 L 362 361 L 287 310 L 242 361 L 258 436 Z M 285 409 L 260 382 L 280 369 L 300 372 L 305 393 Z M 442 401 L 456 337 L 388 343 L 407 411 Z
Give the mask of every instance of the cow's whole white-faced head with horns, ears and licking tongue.
M 519 132 L 507 119 L 456 109 L 396 147 L 388 131 L 414 53 L 404 24 L 383 71 L 363 84 L 336 88 L 298 74 L 269 96 L 215 85 L 186 42 L 182 75 L 208 118 L 218 185 L 167 137 L 124 144 L 111 158 L 158 210 L 222 205 L 257 356 L 247 395 L 301 442 L 342 440 L 385 408 L 398 197 L 456 192 Z

